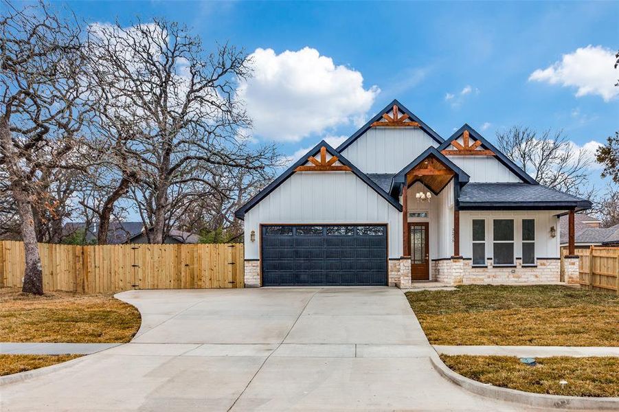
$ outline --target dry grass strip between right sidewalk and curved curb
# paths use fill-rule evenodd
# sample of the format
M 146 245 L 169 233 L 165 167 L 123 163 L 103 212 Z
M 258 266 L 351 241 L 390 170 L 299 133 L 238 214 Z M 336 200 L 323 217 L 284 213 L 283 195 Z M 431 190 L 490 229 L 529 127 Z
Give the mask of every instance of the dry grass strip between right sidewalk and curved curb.
M 567 396 L 619 396 L 619 358 L 537 358 L 537 366 L 511 356 L 440 356 L 454 371 L 497 387 Z M 560 380 L 567 380 L 561 388 Z

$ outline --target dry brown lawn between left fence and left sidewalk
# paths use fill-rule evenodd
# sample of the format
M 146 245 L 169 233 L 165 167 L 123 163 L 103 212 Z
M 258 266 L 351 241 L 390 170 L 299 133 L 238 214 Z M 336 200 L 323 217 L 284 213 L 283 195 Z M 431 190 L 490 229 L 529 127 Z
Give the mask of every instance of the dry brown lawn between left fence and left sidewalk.
M 0 342 L 128 342 L 139 324 L 137 309 L 111 295 L 0 288 Z

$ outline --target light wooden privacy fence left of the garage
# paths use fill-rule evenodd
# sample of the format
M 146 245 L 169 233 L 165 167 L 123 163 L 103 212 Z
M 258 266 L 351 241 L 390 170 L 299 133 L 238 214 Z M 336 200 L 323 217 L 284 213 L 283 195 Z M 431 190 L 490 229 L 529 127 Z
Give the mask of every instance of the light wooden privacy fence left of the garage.
M 38 244 L 43 290 L 243 288 L 243 244 Z M 21 286 L 22 242 L 0 241 L 0 286 Z

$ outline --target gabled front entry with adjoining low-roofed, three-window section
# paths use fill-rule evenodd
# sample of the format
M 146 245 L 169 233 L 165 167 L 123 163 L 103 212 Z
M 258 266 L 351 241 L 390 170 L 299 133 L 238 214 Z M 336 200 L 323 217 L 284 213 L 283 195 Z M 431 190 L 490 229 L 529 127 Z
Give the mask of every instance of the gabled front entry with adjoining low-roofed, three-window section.
M 573 251 L 574 211 L 586 206 L 547 201 L 557 192 L 541 185 L 469 182 L 433 148 L 394 176 L 391 193 L 403 205 L 401 256 L 389 264 L 400 288 L 560 282 L 559 216 L 570 215 Z

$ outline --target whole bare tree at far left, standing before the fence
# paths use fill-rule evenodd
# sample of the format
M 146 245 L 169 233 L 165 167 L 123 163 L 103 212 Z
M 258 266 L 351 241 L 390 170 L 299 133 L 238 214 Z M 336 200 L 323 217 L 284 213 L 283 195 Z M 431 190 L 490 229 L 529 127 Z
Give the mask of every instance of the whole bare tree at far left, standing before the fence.
M 0 17 L 0 168 L 25 247 L 23 292 L 43 294 L 33 206 L 46 168 L 67 168 L 82 123 L 80 30 L 40 3 Z M 54 144 L 50 144 L 54 142 Z

